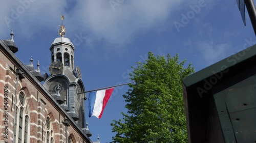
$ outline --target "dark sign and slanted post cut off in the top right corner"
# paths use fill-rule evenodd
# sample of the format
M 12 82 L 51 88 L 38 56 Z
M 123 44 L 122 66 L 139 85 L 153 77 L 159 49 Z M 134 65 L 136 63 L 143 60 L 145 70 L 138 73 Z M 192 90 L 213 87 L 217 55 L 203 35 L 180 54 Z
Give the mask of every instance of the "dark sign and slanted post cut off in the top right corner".
M 255 9 L 253 0 L 237 0 L 237 4 L 240 10 L 244 25 L 246 25 L 246 22 L 245 22 L 245 5 L 246 5 L 252 27 L 256 35 L 256 9 Z

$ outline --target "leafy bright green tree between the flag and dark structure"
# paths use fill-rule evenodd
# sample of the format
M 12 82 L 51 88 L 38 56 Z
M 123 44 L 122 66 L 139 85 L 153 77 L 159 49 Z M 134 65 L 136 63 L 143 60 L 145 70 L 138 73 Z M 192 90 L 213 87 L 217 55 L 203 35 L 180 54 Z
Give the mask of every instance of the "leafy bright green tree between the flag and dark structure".
M 155 57 L 148 52 L 145 63 L 132 67 L 135 84 L 123 95 L 127 114 L 111 123 L 113 142 L 187 142 L 182 79 L 194 72 L 191 64 L 183 68 L 179 55 Z

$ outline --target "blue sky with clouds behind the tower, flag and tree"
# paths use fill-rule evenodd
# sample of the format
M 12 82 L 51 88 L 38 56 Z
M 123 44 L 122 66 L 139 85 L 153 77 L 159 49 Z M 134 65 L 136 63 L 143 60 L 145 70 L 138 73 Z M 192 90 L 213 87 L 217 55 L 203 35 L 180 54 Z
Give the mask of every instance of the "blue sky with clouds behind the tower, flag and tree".
M 187 59 L 196 71 L 256 44 L 246 12 L 244 26 L 236 0 L 66 0 L 1 1 L 0 39 L 9 39 L 13 28 L 25 65 L 40 62 L 40 71 L 49 73 L 50 46 L 65 15 L 63 25 L 75 45 L 75 65 L 82 72 L 86 90 L 131 82 L 127 73 L 147 52 Z M 255 3 L 255 1 L 254 1 Z M 177 26 L 177 23 L 179 23 Z M 88 117 L 91 139 L 112 141 L 112 120 L 126 112 L 122 97 L 127 86 L 116 88 L 101 119 Z M 88 102 L 86 102 L 88 107 Z

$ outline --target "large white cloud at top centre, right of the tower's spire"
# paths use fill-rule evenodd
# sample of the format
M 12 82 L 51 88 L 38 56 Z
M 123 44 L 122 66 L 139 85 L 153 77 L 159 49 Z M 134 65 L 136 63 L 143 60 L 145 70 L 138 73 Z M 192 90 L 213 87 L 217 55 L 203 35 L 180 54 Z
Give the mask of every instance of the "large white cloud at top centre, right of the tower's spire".
M 82 15 L 82 27 L 96 37 L 121 44 L 130 42 L 135 33 L 167 19 L 172 7 L 179 3 L 181 1 L 126 0 L 113 10 L 109 1 L 86 1 L 79 4 L 75 15 Z

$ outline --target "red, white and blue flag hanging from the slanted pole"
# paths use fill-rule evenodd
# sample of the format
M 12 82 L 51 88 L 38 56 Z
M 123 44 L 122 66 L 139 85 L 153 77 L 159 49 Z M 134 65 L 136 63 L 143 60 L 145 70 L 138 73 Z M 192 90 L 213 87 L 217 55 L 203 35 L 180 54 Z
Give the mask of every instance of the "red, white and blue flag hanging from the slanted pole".
M 109 101 L 114 88 L 89 93 L 89 117 L 101 118 L 106 103 Z

